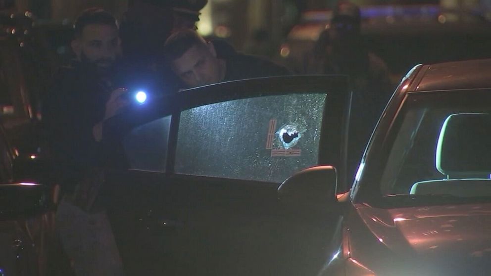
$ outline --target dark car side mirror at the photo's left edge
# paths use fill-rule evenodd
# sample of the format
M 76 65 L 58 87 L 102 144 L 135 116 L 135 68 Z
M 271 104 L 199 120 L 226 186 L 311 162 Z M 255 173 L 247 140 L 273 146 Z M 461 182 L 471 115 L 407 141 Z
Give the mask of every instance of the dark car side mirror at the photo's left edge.
M 44 185 L 0 184 L 0 220 L 29 217 L 49 208 L 49 190 Z

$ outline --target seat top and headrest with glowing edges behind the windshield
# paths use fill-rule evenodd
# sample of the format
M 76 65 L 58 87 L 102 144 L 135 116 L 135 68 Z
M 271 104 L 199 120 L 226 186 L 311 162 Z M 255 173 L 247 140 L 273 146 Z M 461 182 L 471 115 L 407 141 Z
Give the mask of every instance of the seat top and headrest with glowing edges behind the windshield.
M 445 179 L 412 185 L 410 194 L 491 195 L 491 115 L 452 114 L 438 139 L 435 163 Z

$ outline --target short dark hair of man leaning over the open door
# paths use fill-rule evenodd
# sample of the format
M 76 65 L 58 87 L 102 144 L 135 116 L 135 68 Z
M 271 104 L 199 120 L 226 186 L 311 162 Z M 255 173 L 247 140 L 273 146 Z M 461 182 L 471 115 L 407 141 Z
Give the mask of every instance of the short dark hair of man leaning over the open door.
M 164 45 L 164 56 L 168 62 L 180 58 L 193 46 L 206 46 L 206 41 L 193 30 L 183 30 L 170 36 Z

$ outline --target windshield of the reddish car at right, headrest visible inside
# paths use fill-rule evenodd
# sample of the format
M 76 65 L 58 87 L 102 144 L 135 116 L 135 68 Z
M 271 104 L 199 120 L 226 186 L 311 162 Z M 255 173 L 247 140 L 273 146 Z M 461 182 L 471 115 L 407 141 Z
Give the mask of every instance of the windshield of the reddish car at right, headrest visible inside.
M 490 200 L 490 137 L 490 92 L 409 94 L 383 145 L 387 155 L 377 183 L 385 202 Z

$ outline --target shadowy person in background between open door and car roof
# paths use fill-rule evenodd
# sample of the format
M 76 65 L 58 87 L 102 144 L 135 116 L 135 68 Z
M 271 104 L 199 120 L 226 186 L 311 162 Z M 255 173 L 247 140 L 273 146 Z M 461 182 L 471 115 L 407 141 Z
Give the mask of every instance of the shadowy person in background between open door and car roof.
M 348 165 L 354 177 L 368 139 L 393 92 L 387 65 L 364 46 L 359 7 L 340 2 L 329 28 L 305 60 L 305 73 L 349 76 L 353 97 Z

